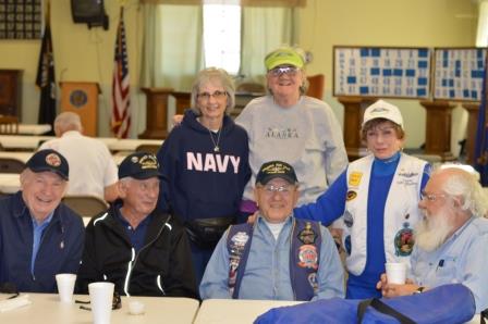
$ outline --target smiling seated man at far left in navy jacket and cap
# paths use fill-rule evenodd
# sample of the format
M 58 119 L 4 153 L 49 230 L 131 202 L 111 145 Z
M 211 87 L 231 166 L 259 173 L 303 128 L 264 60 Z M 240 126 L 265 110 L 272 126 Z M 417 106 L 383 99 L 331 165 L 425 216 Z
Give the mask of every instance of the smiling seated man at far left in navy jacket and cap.
M 69 165 L 54 150 L 36 152 L 21 173 L 21 190 L 0 200 L 0 285 L 56 292 L 54 275 L 76 273 L 82 219 L 61 203 Z

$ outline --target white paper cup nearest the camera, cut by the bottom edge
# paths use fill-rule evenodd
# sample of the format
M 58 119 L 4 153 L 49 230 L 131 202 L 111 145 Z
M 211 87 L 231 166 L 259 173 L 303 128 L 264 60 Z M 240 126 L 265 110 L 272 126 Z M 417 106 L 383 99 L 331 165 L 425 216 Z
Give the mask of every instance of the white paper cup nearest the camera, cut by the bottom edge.
M 95 324 L 109 324 L 112 314 L 112 283 L 91 283 L 88 285 L 91 313 Z

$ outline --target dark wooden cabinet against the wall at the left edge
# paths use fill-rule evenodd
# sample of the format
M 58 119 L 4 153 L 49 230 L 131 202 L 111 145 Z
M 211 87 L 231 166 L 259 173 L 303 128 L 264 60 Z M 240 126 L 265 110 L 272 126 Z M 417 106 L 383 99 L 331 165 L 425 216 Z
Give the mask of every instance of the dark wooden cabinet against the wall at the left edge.
M 0 114 L 22 120 L 22 70 L 0 70 Z

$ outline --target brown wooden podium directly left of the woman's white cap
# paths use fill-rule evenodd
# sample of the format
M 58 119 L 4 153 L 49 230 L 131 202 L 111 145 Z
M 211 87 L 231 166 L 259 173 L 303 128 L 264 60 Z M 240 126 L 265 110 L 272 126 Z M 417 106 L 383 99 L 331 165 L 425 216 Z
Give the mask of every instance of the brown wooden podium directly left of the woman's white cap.
M 344 145 L 350 161 L 365 155 L 364 145 L 361 140 L 361 125 L 364 111 L 377 98 L 338 97 L 338 101 L 344 105 Z

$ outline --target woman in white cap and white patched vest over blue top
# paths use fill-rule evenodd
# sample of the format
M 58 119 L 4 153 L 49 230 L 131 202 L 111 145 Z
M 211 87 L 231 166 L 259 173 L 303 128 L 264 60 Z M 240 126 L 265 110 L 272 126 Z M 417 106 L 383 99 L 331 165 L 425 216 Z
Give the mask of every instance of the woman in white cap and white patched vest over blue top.
M 370 154 L 350 163 L 315 203 L 294 210 L 296 217 L 324 225 L 342 216 L 346 298 L 352 299 L 381 297 L 376 283 L 386 262 L 408 264 L 430 172 L 427 162 L 402 152 L 405 133 L 395 105 L 378 100 L 368 107 L 361 134 Z

